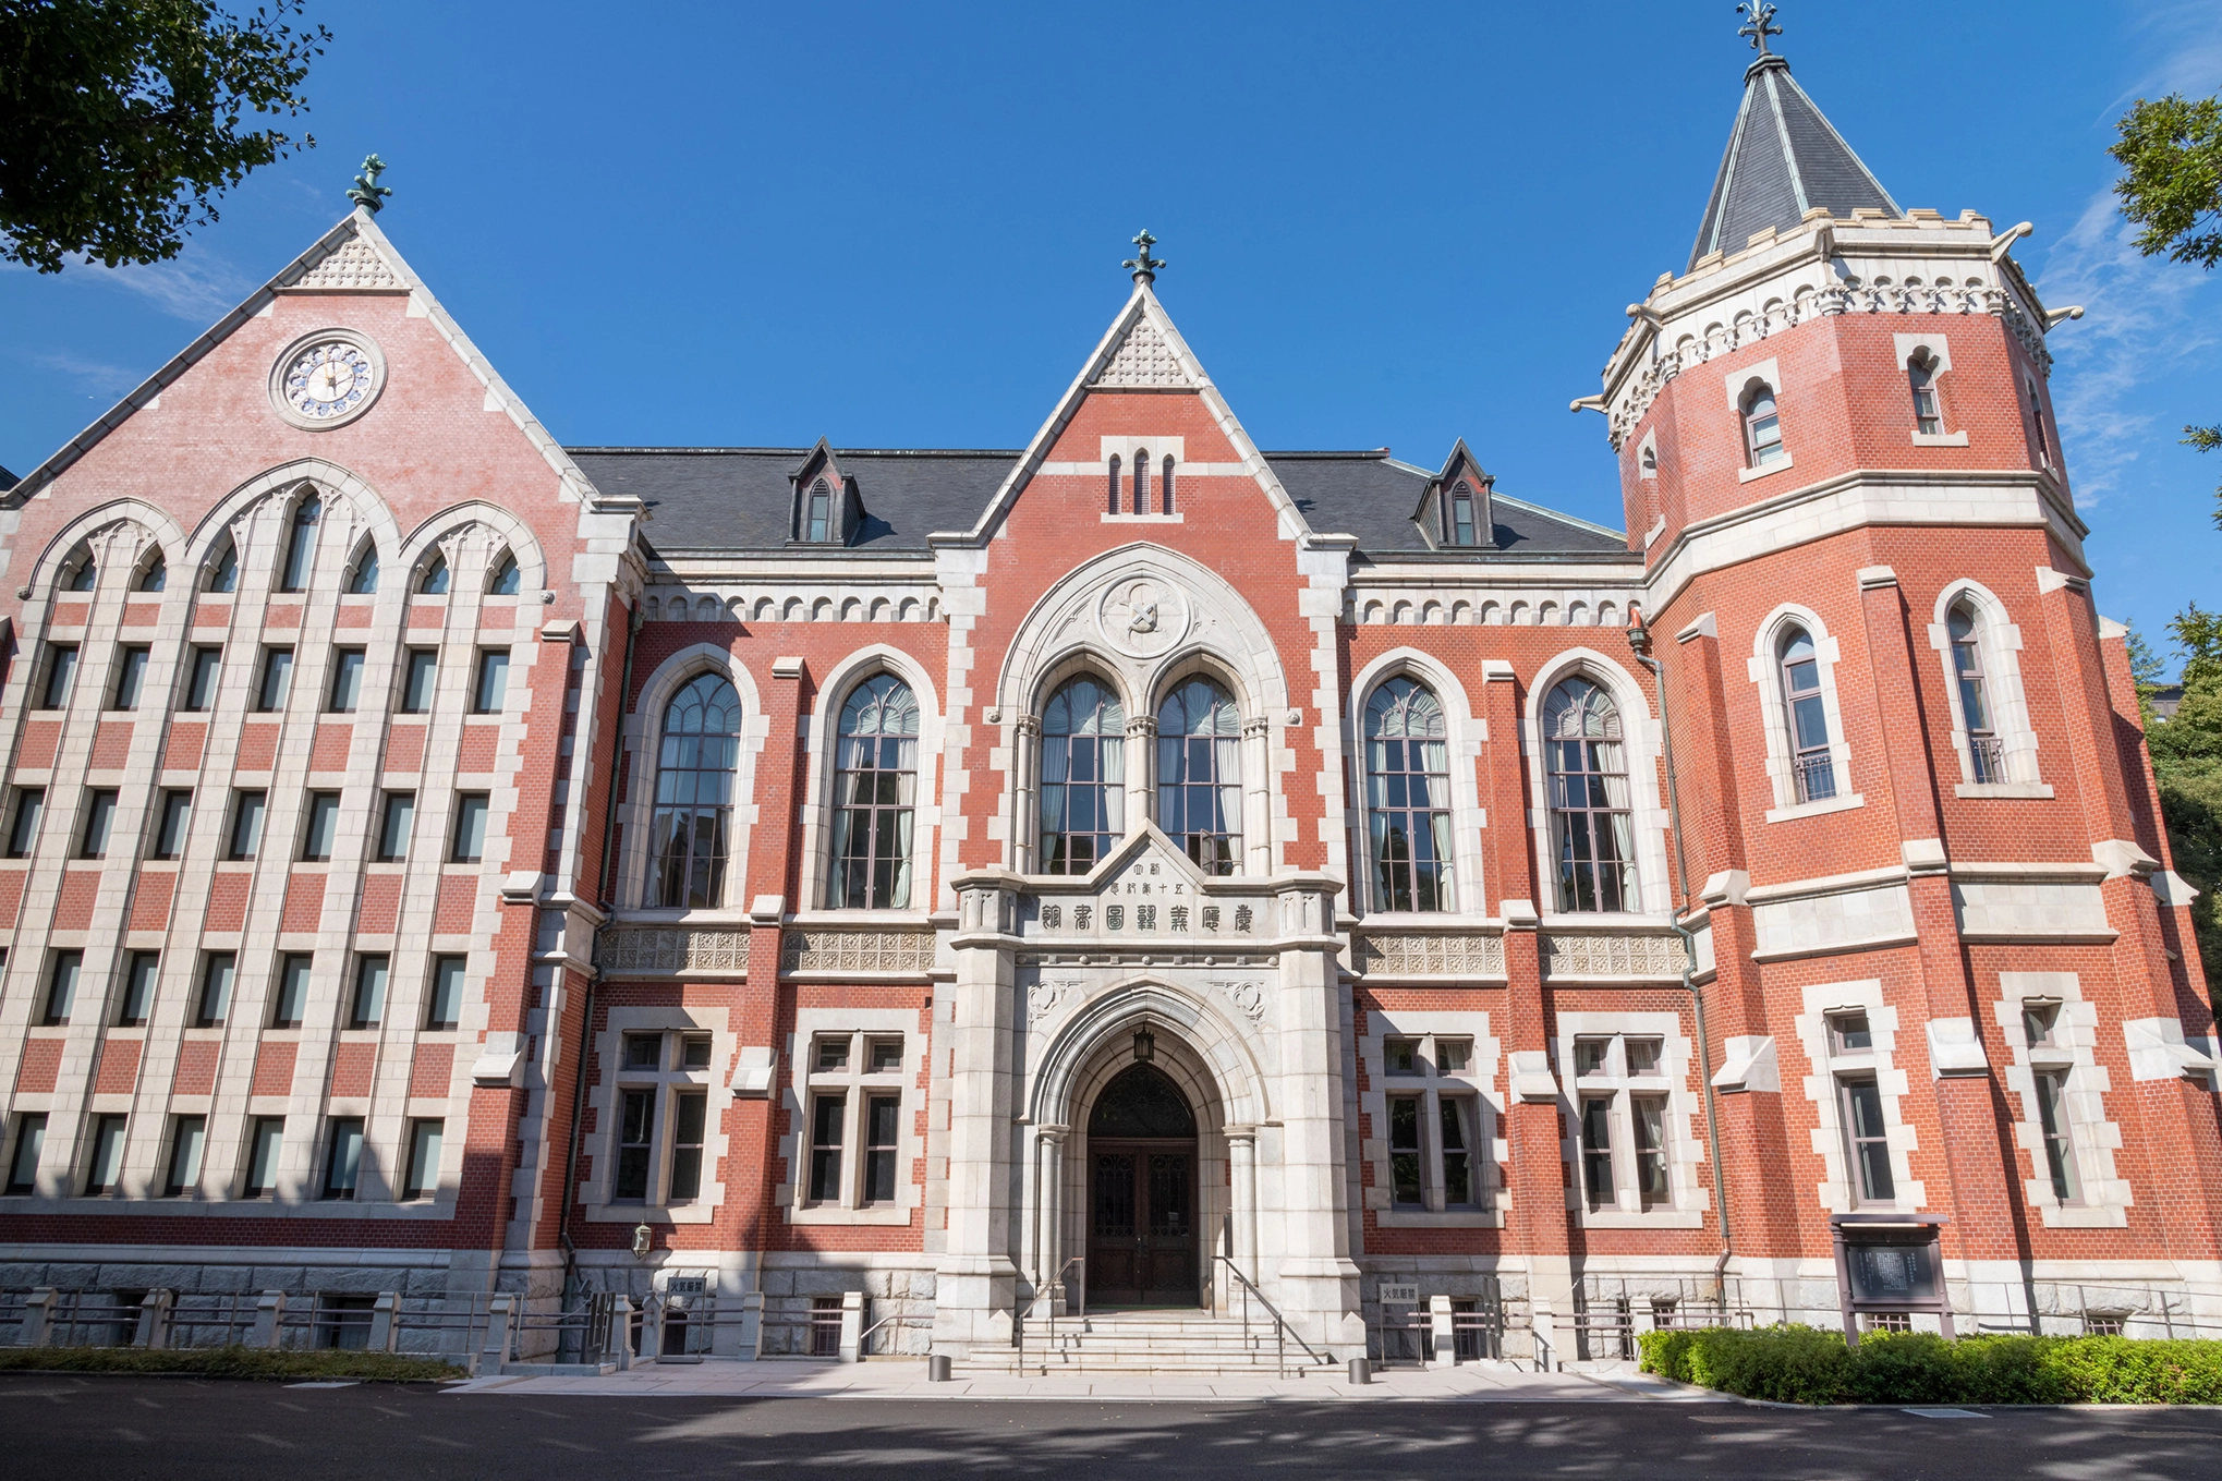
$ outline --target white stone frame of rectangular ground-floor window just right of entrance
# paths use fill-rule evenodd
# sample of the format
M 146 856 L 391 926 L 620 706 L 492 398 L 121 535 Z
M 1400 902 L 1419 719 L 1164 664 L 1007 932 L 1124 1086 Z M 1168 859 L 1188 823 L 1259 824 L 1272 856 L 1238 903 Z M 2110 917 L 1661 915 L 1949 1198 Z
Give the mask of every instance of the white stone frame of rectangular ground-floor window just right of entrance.
M 1387 1041 L 1420 1039 L 1427 1070 L 1422 1075 L 1389 1075 Z M 1435 1039 L 1471 1039 L 1473 1055 L 1467 1068 L 1444 1075 L 1435 1061 Z M 1369 1117 L 1371 1135 L 1360 1139 L 1358 1155 L 1373 1168 L 1371 1188 L 1360 1188 L 1362 1206 L 1373 1212 L 1380 1228 L 1504 1228 L 1511 1208 L 1511 1188 L 1504 1168 L 1511 1161 L 1511 1141 L 1504 1124 L 1504 1041 L 1491 1032 L 1487 1008 L 1462 1012 L 1418 1012 L 1400 1008 L 1367 1008 L 1367 1032 L 1358 1039 L 1358 1059 L 1367 1070 L 1367 1088 L 1358 1095 L 1358 1110 Z M 1391 1084 L 1393 1079 L 1393 1084 Z M 1418 1090 L 1420 1112 L 1420 1168 L 1424 1179 L 1427 1208 L 1398 1208 L 1389 1186 L 1389 1095 Z M 1471 1208 L 1442 1206 L 1442 1146 L 1440 1101 L 1444 1095 L 1473 1101 L 1469 1130 L 1473 1141 L 1467 1155 L 1473 1159 L 1473 1179 L 1480 1201 Z

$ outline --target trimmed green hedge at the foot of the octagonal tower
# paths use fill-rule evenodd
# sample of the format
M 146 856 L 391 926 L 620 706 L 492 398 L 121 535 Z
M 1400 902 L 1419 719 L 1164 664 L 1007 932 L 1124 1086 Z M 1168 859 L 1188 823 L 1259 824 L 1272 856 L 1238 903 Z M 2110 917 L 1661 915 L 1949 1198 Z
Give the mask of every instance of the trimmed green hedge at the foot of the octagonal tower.
M 1644 1332 L 1644 1372 L 1778 1403 L 2222 1403 L 2222 1341 Z

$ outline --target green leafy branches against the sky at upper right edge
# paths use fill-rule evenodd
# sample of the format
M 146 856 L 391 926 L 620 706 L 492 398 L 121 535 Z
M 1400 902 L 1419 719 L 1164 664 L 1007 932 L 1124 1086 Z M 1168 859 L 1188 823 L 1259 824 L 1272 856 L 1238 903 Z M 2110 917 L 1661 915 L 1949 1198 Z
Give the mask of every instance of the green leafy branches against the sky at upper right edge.
M 2142 229 L 2138 251 L 2204 269 L 2222 262 L 2222 93 L 2198 102 L 2182 93 L 2140 98 L 2106 153 L 2122 164 L 2113 193 L 2122 198 L 2122 215 Z M 2222 424 L 2186 426 L 2184 446 L 2215 451 Z M 2215 526 L 2222 526 L 2222 488 Z

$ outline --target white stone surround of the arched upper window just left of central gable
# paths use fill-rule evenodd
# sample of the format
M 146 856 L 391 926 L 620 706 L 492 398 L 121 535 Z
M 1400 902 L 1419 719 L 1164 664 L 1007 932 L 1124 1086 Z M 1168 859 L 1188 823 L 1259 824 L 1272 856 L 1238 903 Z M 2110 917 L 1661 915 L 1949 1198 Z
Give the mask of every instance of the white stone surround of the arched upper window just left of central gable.
M 840 713 L 842 706 L 849 704 L 849 695 L 855 693 L 858 684 L 869 684 L 882 673 L 909 684 L 911 699 L 918 702 L 918 782 L 913 793 L 915 802 L 911 804 L 911 904 L 900 910 L 864 910 L 831 904 L 833 788 L 840 782 L 840 757 L 835 753 L 840 744 Z M 749 768 L 751 715 L 753 711 L 749 708 L 744 693 L 740 724 L 744 773 Z M 933 862 L 940 857 L 940 770 L 944 746 L 940 691 L 927 675 L 924 664 L 891 644 L 867 644 L 864 648 L 844 655 L 818 686 L 811 713 L 802 719 L 802 726 L 804 773 L 798 806 L 800 817 L 795 822 L 802 826 L 802 897 L 809 901 L 807 908 L 831 913 L 833 919 L 842 921 L 911 921 L 924 917 L 935 897 Z M 735 837 L 740 833 L 740 802 L 742 799 L 735 795 Z M 798 917 L 802 917 L 802 913 L 798 913 Z

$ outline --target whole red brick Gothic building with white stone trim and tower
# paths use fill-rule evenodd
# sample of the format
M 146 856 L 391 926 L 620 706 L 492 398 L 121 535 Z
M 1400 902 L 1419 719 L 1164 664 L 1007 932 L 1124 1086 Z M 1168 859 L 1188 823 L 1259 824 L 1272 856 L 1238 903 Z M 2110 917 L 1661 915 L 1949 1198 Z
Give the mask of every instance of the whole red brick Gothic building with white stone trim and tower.
M 4 495 L 0 1286 L 2213 1319 L 2015 238 L 1762 49 L 1620 533 L 1262 453 L 1147 240 L 1020 451 L 564 449 L 358 209 Z

